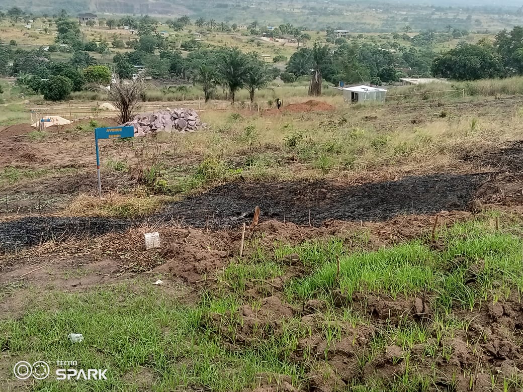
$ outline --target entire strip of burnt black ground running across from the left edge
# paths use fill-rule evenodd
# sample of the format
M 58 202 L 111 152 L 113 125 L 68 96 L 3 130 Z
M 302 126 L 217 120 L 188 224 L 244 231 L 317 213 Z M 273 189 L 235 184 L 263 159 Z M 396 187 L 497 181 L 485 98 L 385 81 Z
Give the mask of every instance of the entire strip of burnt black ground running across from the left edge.
M 399 214 L 467 210 L 485 175 L 405 177 L 398 181 L 347 186 L 328 181 L 235 182 L 170 204 L 152 221 L 186 226 L 228 228 L 252 218 L 319 226 L 331 219 L 384 221 Z M 140 221 L 109 218 L 25 217 L 0 223 L 0 249 L 37 245 L 53 238 L 96 237 L 120 232 Z

